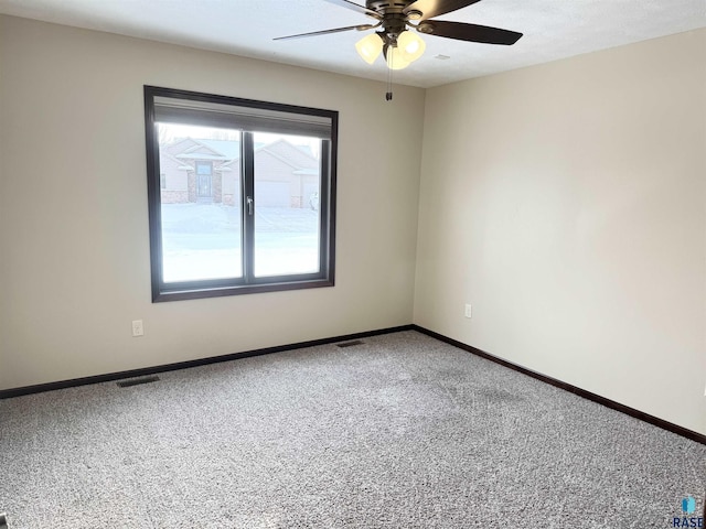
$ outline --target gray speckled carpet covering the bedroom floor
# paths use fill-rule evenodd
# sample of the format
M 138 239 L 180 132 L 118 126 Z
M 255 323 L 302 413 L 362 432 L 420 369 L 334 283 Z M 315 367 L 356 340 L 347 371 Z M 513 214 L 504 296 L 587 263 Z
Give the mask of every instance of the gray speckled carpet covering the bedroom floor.
M 416 332 L 160 378 L 0 401 L 10 529 L 667 528 L 706 489 L 706 446 Z

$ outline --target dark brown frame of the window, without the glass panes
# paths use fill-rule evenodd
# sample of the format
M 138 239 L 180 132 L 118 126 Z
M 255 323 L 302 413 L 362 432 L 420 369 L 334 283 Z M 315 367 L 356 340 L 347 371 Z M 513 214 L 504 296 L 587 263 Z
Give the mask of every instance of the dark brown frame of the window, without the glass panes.
M 240 202 L 242 202 L 242 259 L 243 277 L 199 281 L 165 282 L 162 267 L 162 228 L 161 228 L 161 183 L 159 164 L 159 134 L 157 132 L 156 98 L 174 99 L 199 104 L 226 105 L 258 111 L 275 112 L 296 120 L 296 117 L 313 117 L 330 121 L 329 136 L 321 140 L 320 196 L 319 196 L 319 272 L 306 274 L 287 274 L 276 277 L 255 277 L 255 222 L 248 215 L 247 198 L 254 197 L 254 150 L 253 133 L 257 128 L 257 117 L 248 116 L 255 125 L 250 130 L 242 131 L 240 156 Z M 193 111 L 193 110 L 189 110 Z M 223 119 L 223 115 L 220 115 Z M 335 110 L 324 110 L 278 102 L 258 101 L 231 96 L 221 96 L 197 91 L 163 88 L 145 85 L 145 129 L 147 149 L 147 191 L 149 205 L 150 233 L 150 268 L 152 302 L 178 301 L 224 295 L 250 294 L 285 290 L 312 289 L 334 285 L 335 269 L 335 190 L 336 190 L 336 151 L 338 119 Z M 266 120 L 266 118 L 265 118 Z M 293 121 L 292 121 L 293 122 Z M 302 125 L 303 123 L 303 125 Z M 307 127 L 306 122 L 299 127 Z M 268 130 L 271 131 L 271 123 Z M 282 130 L 281 133 L 291 133 Z M 257 205 L 255 205 L 257 207 Z

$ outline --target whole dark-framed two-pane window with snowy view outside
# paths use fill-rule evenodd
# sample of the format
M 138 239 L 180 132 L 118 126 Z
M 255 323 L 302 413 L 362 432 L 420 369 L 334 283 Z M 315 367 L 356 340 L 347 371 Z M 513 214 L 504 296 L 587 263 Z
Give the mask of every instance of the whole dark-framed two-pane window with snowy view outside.
M 338 112 L 145 87 L 152 300 L 332 287 Z

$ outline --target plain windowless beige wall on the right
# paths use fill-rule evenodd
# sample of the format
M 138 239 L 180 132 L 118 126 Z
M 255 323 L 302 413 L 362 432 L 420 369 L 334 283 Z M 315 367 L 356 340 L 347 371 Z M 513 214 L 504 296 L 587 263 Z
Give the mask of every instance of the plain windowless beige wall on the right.
M 705 65 L 702 30 L 428 90 L 415 323 L 706 433 Z

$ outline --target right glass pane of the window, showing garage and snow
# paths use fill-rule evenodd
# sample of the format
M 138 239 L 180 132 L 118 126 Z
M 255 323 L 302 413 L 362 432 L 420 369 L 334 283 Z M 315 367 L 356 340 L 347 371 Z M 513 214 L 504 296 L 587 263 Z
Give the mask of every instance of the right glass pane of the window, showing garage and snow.
M 255 133 L 255 276 L 319 272 L 321 140 Z

